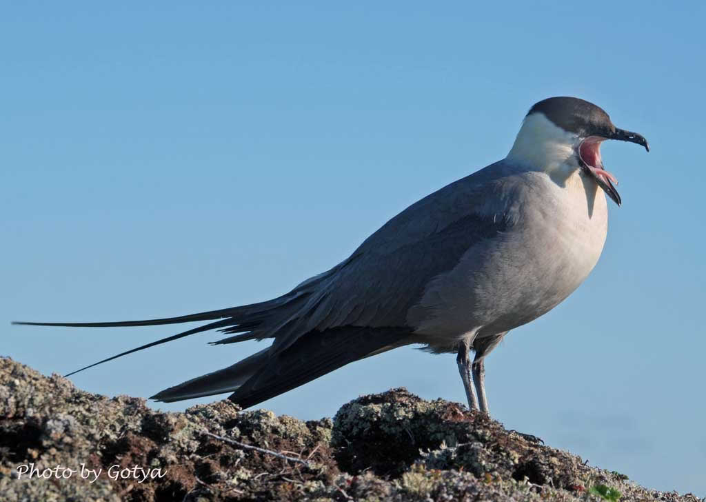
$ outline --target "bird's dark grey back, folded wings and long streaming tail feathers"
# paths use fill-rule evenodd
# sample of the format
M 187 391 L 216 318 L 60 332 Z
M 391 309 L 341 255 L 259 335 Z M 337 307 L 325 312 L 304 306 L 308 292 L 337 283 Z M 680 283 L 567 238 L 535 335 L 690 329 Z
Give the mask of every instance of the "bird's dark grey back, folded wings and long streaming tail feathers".
M 445 186 L 393 217 L 342 263 L 269 301 L 143 321 L 25 324 L 108 327 L 217 320 L 100 362 L 211 329 L 231 335 L 215 343 L 274 338 L 273 345 L 229 368 L 154 396 L 172 401 L 234 390 L 232 399 L 253 405 L 412 342 L 414 326 L 407 314 L 413 306 L 422 308 L 417 304 L 427 286 L 445 283 L 444 274 L 469 251 L 479 251 L 477 261 L 486 260 L 489 253 L 481 246 L 497 244 L 515 225 L 517 208 L 531 191 L 522 188 L 516 174 L 501 161 Z

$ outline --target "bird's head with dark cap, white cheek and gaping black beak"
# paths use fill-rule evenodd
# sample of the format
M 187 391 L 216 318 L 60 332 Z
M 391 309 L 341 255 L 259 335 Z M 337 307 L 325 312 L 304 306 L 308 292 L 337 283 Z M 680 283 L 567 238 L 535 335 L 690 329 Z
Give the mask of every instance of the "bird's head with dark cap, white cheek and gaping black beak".
M 527 112 L 508 158 L 547 172 L 581 169 L 620 205 L 615 177 L 601 159 L 601 143 L 609 139 L 638 143 L 650 151 L 644 136 L 618 129 L 595 104 L 577 97 L 549 97 Z

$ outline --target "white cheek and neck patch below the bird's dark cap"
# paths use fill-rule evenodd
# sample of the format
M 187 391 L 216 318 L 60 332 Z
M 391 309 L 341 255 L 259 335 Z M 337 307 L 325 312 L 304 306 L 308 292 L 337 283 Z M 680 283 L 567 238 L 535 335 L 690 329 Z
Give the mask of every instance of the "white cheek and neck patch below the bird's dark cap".
M 577 144 L 574 133 L 564 131 L 542 113 L 533 113 L 522 122 L 507 159 L 534 171 L 568 177 L 579 167 Z

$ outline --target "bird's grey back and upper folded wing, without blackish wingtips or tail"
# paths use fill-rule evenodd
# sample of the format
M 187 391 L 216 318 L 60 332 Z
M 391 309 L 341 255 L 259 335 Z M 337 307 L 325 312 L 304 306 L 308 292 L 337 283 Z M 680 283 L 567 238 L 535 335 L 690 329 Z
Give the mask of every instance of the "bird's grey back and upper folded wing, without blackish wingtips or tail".
M 501 161 L 445 186 L 393 217 L 328 273 L 302 283 L 314 289 L 273 332 L 273 353 L 311 330 L 407 326 L 409 309 L 433 277 L 513 225 L 515 208 L 504 202 L 517 201 L 513 174 Z

